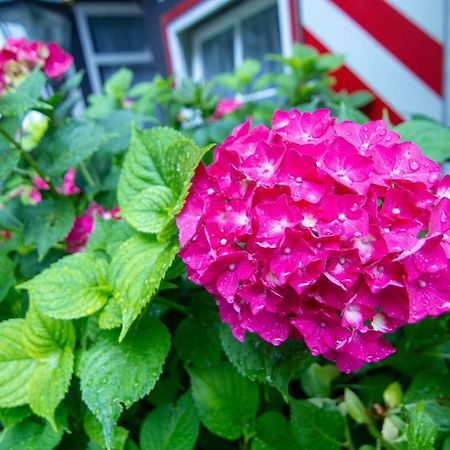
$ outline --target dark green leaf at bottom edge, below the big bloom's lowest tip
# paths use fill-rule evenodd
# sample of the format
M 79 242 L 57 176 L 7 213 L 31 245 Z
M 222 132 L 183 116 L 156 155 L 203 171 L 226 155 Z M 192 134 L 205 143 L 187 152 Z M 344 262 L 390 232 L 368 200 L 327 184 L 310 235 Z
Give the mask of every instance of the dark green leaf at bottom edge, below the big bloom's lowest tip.
M 302 448 L 339 450 L 344 430 L 344 418 L 335 404 L 326 400 L 291 401 L 291 431 Z

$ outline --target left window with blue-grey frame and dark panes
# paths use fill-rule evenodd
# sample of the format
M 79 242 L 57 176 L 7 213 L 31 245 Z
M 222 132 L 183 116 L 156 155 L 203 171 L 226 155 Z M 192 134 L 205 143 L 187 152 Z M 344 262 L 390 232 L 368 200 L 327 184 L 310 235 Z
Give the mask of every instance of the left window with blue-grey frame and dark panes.
M 143 10 L 137 4 L 79 4 L 75 17 L 93 92 L 120 67 L 135 74 L 134 82 L 154 75 L 153 54 L 146 37 Z

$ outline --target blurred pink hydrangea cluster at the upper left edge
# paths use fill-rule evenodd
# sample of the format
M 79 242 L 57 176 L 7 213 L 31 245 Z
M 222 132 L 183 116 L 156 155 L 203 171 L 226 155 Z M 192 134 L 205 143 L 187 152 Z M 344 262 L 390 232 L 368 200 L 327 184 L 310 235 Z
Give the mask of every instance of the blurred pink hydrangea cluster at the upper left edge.
M 49 78 L 58 78 L 69 70 L 72 56 L 56 43 L 9 38 L 0 50 L 0 95 L 17 86 L 36 67 Z

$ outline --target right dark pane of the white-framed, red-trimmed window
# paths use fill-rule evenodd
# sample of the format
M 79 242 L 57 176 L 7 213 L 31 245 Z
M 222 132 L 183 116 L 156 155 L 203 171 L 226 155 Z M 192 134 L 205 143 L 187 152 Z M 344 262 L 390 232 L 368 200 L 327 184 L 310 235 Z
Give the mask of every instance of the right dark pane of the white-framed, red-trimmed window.
M 242 22 L 244 58 L 253 58 L 262 62 L 262 71 L 279 70 L 275 61 L 266 61 L 268 53 L 281 53 L 280 27 L 277 6 L 270 7 Z

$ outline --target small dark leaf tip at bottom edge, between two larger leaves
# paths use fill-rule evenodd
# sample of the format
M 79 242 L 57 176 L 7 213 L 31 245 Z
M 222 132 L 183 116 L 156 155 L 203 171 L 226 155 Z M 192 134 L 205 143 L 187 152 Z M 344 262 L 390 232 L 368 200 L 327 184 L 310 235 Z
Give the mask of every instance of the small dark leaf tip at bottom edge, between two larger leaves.
M 300 450 L 289 428 L 289 422 L 278 411 L 267 411 L 256 421 L 252 450 Z

